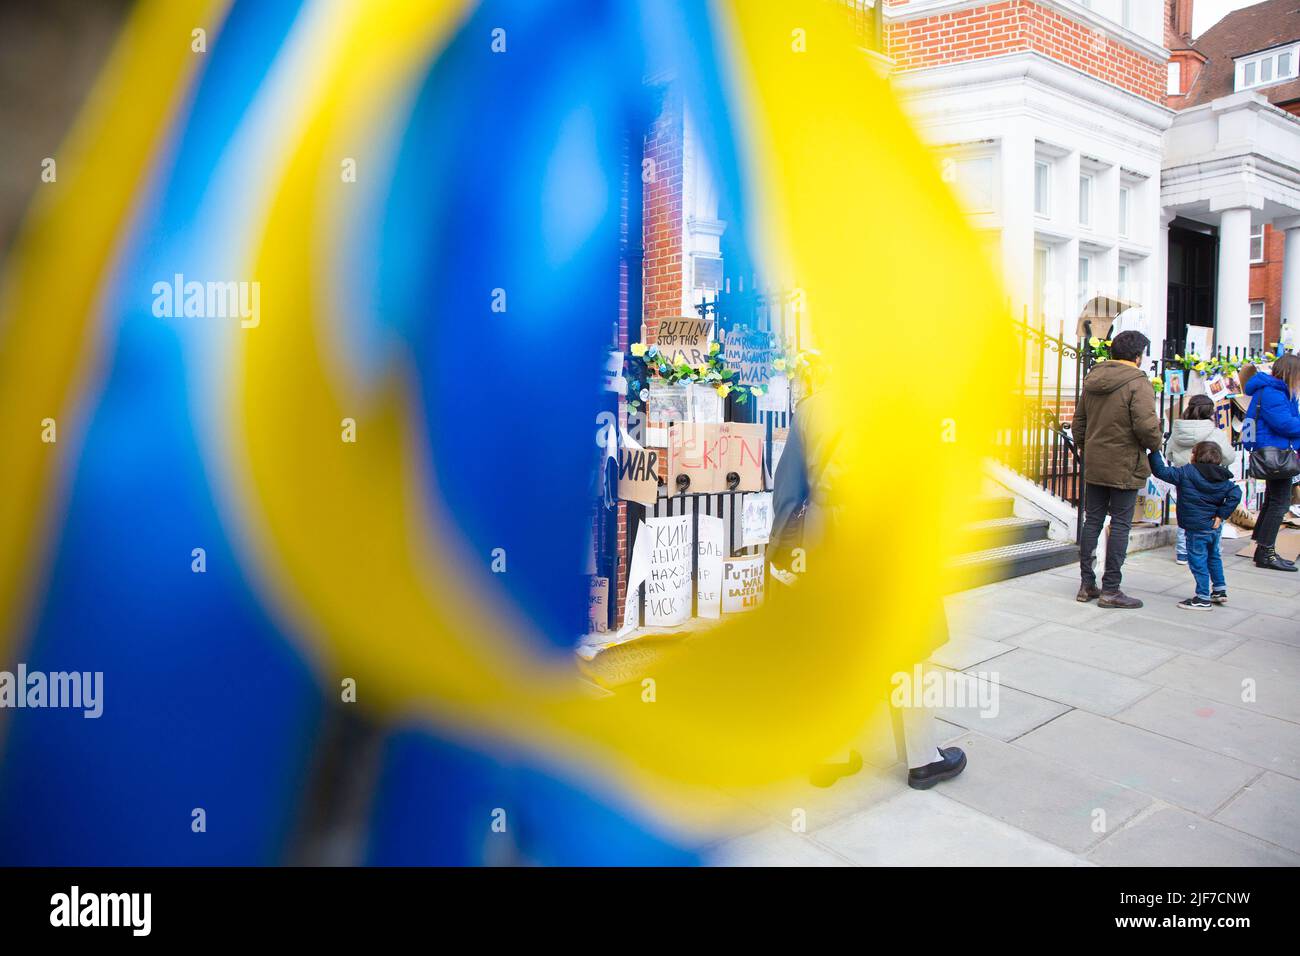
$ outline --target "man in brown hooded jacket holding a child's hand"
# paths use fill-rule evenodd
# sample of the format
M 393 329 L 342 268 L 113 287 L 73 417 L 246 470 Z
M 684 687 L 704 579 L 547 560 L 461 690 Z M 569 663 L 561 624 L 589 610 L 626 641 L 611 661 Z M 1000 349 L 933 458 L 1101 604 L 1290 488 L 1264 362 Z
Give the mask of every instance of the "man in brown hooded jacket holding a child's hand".
M 1147 451 L 1158 449 L 1164 438 L 1156 414 L 1156 392 L 1138 367 L 1149 345 L 1140 332 L 1115 336 L 1110 359 L 1088 373 L 1074 412 L 1074 440 L 1083 449 L 1084 481 L 1078 600 L 1098 598 L 1098 607 L 1141 607 L 1141 601 L 1119 589 L 1119 581 L 1138 489 L 1150 475 Z M 1110 537 L 1106 540 L 1106 571 L 1098 589 L 1093 555 L 1106 515 L 1110 515 Z

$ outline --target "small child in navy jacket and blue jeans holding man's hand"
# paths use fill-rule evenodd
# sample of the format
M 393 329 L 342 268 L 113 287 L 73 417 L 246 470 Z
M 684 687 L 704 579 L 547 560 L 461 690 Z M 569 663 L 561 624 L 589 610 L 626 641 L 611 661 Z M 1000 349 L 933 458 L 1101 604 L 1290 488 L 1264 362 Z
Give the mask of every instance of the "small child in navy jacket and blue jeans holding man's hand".
M 1178 527 L 1187 533 L 1187 566 L 1196 579 L 1196 594 L 1178 606 L 1208 611 L 1217 604 L 1227 604 L 1219 537 L 1223 522 L 1242 502 L 1242 489 L 1223 467 L 1223 453 L 1213 441 L 1202 441 L 1192 447 L 1191 464 L 1182 468 L 1170 468 L 1158 451 L 1152 451 L 1147 460 L 1152 475 L 1178 489 Z

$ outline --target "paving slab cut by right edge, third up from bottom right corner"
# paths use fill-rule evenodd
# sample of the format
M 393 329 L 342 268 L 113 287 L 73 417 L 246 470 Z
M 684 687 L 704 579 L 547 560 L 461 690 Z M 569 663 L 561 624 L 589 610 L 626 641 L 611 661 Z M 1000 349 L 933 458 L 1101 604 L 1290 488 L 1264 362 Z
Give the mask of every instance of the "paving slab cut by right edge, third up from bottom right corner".
M 1115 719 L 1225 757 L 1300 778 L 1300 726 L 1167 687 Z

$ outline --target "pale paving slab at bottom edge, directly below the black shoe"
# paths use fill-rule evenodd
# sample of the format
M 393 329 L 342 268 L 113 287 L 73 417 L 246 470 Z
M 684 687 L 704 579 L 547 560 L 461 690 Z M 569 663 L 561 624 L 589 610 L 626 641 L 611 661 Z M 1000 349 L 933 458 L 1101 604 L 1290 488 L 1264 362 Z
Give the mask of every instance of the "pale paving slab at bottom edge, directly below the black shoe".
M 909 790 L 833 823 L 815 839 L 863 866 L 1087 865 L 1074 853 L 936 791 Z

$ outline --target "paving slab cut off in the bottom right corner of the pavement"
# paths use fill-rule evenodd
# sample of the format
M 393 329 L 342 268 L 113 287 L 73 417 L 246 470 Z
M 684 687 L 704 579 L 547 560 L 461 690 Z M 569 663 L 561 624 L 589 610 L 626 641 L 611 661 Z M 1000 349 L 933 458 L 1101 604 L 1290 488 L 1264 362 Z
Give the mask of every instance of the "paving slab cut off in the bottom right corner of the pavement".
M 1296 866 L 1300 856 L 1221 823 L 1166 806 L 1102 840 L 1104 866 Z

